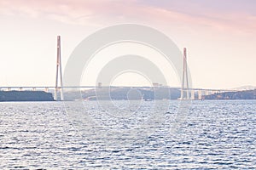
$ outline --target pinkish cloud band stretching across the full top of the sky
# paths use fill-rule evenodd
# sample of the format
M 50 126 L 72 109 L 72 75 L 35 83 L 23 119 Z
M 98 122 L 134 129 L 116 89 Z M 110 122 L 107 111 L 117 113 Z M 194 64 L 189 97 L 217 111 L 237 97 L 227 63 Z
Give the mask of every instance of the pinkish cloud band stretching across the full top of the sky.
M 0 13 L 44 17 L 85 26 L 106 25 L 112 22 L 143 22 L 161 25 L 176 23 L 182 26 L 212 27 L 218 31 L 245 33 L 256 30 L 255 15 L 239 10 L 236 8 L 238 4 L 231 6 L 230 10 L 229 8 L 223 10 L 218 8 L 221 6 L 219 1 L 175 2 L 172 0 L 162 3 L 152 0 L 9 0 L 0 2 Z M 224 3 L 224 6 L 229 5 Z

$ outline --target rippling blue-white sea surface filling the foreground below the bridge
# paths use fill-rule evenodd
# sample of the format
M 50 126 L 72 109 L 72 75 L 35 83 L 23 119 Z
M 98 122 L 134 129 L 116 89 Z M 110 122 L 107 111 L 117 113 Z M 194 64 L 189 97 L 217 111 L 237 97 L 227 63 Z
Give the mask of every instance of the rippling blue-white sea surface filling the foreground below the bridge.
M 256 169 L 256 100 L 169 104 L 0 103 L 0 169 Z

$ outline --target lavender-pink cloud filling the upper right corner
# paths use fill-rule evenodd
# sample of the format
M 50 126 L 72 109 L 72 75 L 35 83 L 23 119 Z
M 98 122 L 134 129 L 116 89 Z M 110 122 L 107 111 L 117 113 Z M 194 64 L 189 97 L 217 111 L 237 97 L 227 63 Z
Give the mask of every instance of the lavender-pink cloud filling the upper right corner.
M 246 1 L 248 3 L 244 0 L 148 0 L 139 3 L 148 8 L 151 20 L 251 34 L 256 28 L 256 2 Z

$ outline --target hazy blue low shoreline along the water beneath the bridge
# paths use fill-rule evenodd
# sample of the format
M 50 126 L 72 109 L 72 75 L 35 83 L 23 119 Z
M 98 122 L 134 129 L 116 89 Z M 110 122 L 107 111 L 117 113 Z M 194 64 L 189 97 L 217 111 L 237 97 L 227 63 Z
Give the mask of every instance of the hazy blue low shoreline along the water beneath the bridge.
M 154 99 L 154 91 L 141 90 L 140 93 L 143 95 L 145 102 L 154 100 L 180 100 L 180 91 L 172 90 L 171 96 L 167 95 L 166 92 L 158 92 L 157 99 Z M 65 95 L 66 101 L 76 100 L 141 100 L 138 95 L 131 95 L 127 98 L 127 89 L 119 89 L 111 92 L 111 98 L 109 98 L 108 91 L 101 90 L 98 94 L 95 94 L 95 90 L 84 92 L 81 97 L 76 92 Z M 108 96 L 108 98 L 106 97 Z M 172 98 L 171 98 L 172 97 Z M 196 96 L 195 96 L 196 97 Z M 198 100 L 250 100 L 256 99 L 256 90 L 245 90 L 238 92 L 224 92 L 221 94 L 211 94 L 202 96 L 202 99 L 189 99 L 192 101 Z M 53 94 L 44 91 L 0 91 L 0 102 L 26 102 L 26 101 L 55 101 Z

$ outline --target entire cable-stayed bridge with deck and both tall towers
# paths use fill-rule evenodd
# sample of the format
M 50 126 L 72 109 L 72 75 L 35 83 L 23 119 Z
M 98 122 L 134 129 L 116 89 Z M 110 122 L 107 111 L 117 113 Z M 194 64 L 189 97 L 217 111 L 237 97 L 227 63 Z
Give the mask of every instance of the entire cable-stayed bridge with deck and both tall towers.
M 60 79 L 60 86 L 59 86 Z M 154 85 L 157 84 L 157 85 Z M 56 75 L 55 86 L 3 86 L 0 87 L 0 91 L 54 91 L 55 100 L 59 100 L 57 94 L 60 93 L 60 100 L 63 100 L 63 90 L 84 90 L 91 88 L 140 88 L 140 89 L 157 89 L 157 88 L 170 88 L 168 86 L 160 86 L 158 83 L 153 83 L 152 87 L 127 87 L 127 86 L 102 86 L 102 82 L 98 83 L 98 86 L 63 86 L 62 72 L 61 72 L 61 37 L 57 37 L 57 62 L 56 62 Z M 201 88 L 189 88 L 188 71 L 187 71 L 187 53 L 186 48 L 183 48 L 183 82 L 182 88 L 172 88 L 180 90 L 181 96 L 179 99 L 203 99 L 203 96 L 212 94 L 221 94 L 224 92 L 236 92 L 237 90 L 229 89 L 201 89 Z

